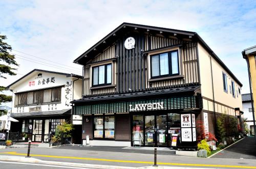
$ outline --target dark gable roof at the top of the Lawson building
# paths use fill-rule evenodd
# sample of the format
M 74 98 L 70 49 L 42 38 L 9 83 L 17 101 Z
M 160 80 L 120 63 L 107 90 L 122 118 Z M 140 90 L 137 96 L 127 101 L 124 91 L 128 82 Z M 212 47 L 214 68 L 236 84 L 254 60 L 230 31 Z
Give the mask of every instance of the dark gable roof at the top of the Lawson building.
M 122 34 L 123 32 L 127 31 L 127 29 L 141 29 L 147 31 L 155 31 L 155 32 L 162 32 L 162 33 L 169 33 L 169 34 L 177 34 L 180 37 L 183 38 L 190 38 L 192 40 L 198 41 L 201 43 L 201 45 L 212 55 L 212 57 L 228 72 L 228 74 L 237 81 L 237 83 L 242 87 L 242 83 L 238 80 L 236 76 L 227 68 L 227 66 L 219 59 L 219 57 L 214 53 L 214 51 L 211 50 L 211 48 L 204 42 L 204 40 L 196 33 L 196 32 L 189 32 L 189 31 L 182 31 L 182 30 L 175 30 L 175 29 L 168 29 L 164 27 L 157 27 L 157 26 L 148 26 L 148 25 L 142 25 L 142 24 L 135 24 L 135 23 L 127 23 L 123 22 L 120 24 L 115 30 L 113 30 L 111 33 L 106 35 L 104 38 L 102 38 L 100 41 L 98 41 L 96 44 L 94 44 L 91 48 L 89 48 L 87 51 L 82 53 L 77 59 L 74 60 L 74 63 L 84 65 L 87 61 L 92 59 L 92 57 L 95 57 L 100 50 L 97 50 L 97 48 L 105 49 L 106 47 L 110 46 L 110 44 L 114 43 L 118 39 L 118 34 Z M 124 30 L 126 29 L 126 30 Z M 108 43 L 106 43 L 108 42 Z

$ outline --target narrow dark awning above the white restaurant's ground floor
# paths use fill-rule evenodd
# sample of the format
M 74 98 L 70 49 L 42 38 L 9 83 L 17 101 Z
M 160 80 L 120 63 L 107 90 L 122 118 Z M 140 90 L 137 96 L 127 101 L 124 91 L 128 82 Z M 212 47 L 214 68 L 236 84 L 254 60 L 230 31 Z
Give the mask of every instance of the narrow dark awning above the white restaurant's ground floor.
M 71 115 L 71 109 L 11 113 L 12 118 L 52 117 Z

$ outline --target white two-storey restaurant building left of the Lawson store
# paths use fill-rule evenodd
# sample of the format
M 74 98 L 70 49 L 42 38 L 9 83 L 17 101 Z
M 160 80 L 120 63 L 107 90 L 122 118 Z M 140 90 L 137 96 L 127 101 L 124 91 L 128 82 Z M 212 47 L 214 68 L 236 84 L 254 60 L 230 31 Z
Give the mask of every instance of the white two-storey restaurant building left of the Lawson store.
M 27 133 L 32 142 L 48 142 L 58 124 L 72 122 L 70 101 L 81 98 L 81 79 L 75 74 L 34 69 L 13 82 L 7 87 L 13 91 L 11 117 L 19 122 L 11 123 L 11 131 Z M 81 142 L 81 137 L 75 138 L 74 143 Z

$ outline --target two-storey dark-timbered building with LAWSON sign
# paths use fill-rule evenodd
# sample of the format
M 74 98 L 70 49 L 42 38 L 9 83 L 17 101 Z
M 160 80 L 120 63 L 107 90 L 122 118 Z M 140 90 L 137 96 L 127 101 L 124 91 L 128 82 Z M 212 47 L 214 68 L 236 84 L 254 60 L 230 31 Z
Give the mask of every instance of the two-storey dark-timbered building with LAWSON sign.
M 242 83 L 195 32 L 122 23 L 74 63 L 83 144 L 191 147 L 197 121 L 240 116 Z

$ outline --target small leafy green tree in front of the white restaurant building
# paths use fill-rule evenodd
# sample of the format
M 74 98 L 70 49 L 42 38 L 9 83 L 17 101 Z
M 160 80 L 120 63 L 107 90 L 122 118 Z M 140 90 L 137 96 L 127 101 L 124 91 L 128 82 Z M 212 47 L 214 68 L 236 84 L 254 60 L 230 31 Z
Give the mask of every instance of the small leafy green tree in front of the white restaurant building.
M 66 122 L 57 125 L 55 129 L 55 134 L 52 138 L 53 143 L 61 142 L 62 138 L 70 138 L 72 136 L 71 131 L 73 130 L 73 125 Z

